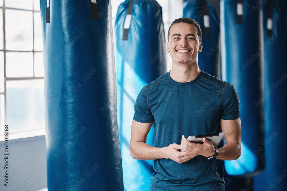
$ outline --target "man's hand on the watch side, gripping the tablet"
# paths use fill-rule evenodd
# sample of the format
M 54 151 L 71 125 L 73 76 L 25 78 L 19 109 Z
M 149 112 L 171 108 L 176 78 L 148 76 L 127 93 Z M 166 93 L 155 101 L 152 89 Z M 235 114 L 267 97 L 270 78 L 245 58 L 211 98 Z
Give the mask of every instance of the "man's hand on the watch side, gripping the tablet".
M 187 139 L 182 135 L 181 137 L 181 148 L 184 152 L 189 154 L 202 155 L 205 157 L 211 157 L 215 155 L 215 149 L 213 143 L 206 139 L 205 137 L 202 139 L 203 143 L 191 143 L 187 141 Z

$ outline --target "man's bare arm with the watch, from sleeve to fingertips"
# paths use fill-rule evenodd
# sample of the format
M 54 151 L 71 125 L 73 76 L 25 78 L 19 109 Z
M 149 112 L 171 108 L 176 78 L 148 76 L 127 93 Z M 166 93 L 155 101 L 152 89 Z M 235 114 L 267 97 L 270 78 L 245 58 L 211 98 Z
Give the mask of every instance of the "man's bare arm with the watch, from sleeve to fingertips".
M 236 160 L 241 155 L 241 120 L 223 120 L 220 119 L 222 132 L 225 132 L 223 147 L 218 148 L 219 160 Z M 185 152 L 211 157 L 215 150 L 211 141 L 203 138 L 203 144 L 191 143 L 183 136 L 181 147 Z

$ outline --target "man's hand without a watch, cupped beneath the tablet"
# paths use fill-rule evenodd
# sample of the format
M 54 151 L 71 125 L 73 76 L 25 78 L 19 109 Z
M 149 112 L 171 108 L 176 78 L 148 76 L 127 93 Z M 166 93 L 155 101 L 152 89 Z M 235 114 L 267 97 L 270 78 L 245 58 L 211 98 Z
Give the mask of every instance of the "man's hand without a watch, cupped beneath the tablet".
M 191 154 L 187 152 L 179 152 L 179 149 L 181 149 L 181 145 L 178 145 L 176 143 L 172 143 L 168 145 L 167 147 L 164 147 L 164 155 L 166 156 L 165 158 L 169 158 L 181 164 L 197 156 L 196 154 Z

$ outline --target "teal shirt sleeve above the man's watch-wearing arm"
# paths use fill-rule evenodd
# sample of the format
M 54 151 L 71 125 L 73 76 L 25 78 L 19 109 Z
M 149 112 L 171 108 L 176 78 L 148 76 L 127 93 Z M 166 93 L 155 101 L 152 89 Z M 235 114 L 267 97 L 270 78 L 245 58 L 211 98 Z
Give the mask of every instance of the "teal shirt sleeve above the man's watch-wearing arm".
M 226 86 L 222 95 L 222 111 L 220 119 L 234 120 L 240 117 L 239 96 L 230 83 Z

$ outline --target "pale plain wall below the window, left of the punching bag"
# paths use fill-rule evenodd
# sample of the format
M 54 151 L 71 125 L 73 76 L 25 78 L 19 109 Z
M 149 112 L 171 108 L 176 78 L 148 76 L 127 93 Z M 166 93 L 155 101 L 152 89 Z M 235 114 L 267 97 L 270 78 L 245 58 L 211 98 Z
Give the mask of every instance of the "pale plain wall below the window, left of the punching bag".
M 1 141 L 0 151 L 1 191 L 37 191 L 47 187 L 45 135 L 29 137 L 26 141 L 22 138 L 9 140 L 7 153 L 10 155 L 3 154 L 4 141 Z M 9 187 L 4 186 L 3 181 L 5 156 L 9 156 Z

